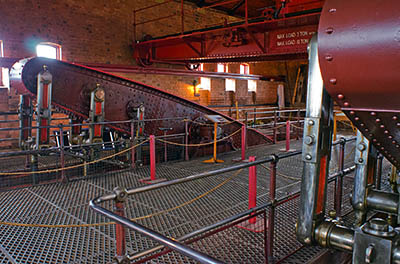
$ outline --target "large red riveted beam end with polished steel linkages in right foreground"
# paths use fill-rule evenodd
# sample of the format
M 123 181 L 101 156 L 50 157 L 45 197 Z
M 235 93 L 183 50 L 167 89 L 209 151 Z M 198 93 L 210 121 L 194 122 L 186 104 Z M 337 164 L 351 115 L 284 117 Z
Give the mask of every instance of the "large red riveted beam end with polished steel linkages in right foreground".
M 399 14 L 397 0 L 327 0 L 318 41 L 315 36 L 309 45 L 304 168 L 296 233 L 304 244 L 352 252 L 355 264 L 400 263 L 400 235 L 389 225 L 391 216 L 400 219 L 399 194 L 375 186 L 377 151 L 400 166 Z M 324 159 L 329 158 L 331 142 L 329 96 L 359 130 L 352 194 L 354 228 L 324 218 L 325 169 L 329 164 Z M 366 214 L 372 211 L 389 217 L 366 222 Z

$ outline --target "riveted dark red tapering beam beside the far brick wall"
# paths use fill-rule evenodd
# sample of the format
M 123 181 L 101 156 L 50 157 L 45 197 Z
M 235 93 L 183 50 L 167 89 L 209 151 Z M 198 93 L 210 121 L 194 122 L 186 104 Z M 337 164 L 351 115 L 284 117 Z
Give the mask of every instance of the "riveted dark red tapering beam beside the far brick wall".
M 143 108 L 145 119 L 156 119 L 144 126 L 143 133 L 148 136 L 161 135 L 160 127 L 169 127 L 174 133 L 184 133 L 183 118 L 198 121 L 204 115 L 221 115 L 207 107 L 145 84 L 81 65 L 45 58 L 25 59 L 15 64 L 11 69 L 11 85 L 20 93 L 29 93 L 36 97 L 37 76 L 43 66 L 46 66 L 52 75 L 52 105 L 75 121 L 88 118 L 93 122 L 136 120 L 138 109 Z M 167 120 L 174 117 L 181 117 L 182 120 Z M 226 135 L 241 129 L 242 123 L 228 116 L 224 117 L 231 121 L 223 126 Z M 109 126 L 121 134 L 131 134 L 130 123 Z M 100 125 L 94 125 L 91 138 L 101 138 L 100 130 Z M 240 133 L 232 138 L 233 145 L 239 147 Z M 191 137 L 191 140 L 197 143 L 199 139 Z M 256 130 L 249 129 L 248 142 L 249 145 L 257 145 L 271 141 Z M 212 147 L 210 149 L 205 153 L 211 153 Z

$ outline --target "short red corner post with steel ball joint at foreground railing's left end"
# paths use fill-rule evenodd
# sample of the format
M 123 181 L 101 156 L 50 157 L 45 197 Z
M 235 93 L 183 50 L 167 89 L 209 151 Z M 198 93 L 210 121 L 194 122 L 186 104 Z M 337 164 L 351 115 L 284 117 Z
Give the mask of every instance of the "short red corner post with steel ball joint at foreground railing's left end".
M 125 189 L 119 187 L 114 189 L 116 194 L 115 198 L 115 214 L 124 217 L 125 208 L 124 202 L 128 197 Z M 115 246 L 116 246 L 116 256 L 115 260 L 117 263 L 129 263 L 126 262 L 126 240 L 125 240 L 125 227 L 122 224 L 115 224 Z

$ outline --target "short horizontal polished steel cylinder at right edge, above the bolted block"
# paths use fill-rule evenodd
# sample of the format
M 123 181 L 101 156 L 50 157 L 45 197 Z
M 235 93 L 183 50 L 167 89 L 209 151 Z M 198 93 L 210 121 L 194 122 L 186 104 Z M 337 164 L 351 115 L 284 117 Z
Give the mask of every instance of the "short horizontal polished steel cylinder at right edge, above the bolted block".
M 367 195 L 367 207 L 376 211 L 397 215 L 399 194 L 371 190 Z

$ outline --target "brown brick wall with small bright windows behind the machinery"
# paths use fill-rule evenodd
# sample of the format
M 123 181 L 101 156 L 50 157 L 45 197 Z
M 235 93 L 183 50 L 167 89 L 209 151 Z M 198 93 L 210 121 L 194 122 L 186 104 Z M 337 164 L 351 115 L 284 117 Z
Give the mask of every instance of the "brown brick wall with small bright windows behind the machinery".
M 72 62 L 94 62 L 111 64 L 135 64 L 131 43 L 134 36 L 133 10 L 163 0 L 0 0 L 0 39 L 4 42 L 6 57 L 28 57 L 35 55 L 40 42 L 54 42 L 62 46 L 63 60 Z M 198 10 L 185 4 L 185 30 L 232 22 L 228 17 L 212 10 Z M 137 26 L 137 39 L 145 35 L 153 37 L 180 32 L 180 4 L 171 2 L 151 10 L 138 13 L 137 22 L 176 13 L 177 16 Z M 252 64 L 251 73 L 275 74 L 276 63 Z M 277 64 L 279 74 L 285 74 Z M 253 67 L 254 66 L 254 67 Z M 169 66 L 172 67 L 172 66 Z M 180 66 L 181 67 L 181 66 Z M 205 70 L 216 71 L 215 64 L 207 64 Z M 230 65 L 230 72 L 239 73 L 239 64 Z M 232 104 L 232 94 L 225 92 L 225 82 L 212 79 L 211 91 L 193 94 L 193 77 L 168 75 L 124 75 L 139 82 L 164 89 L 204 105 Z M 256 104 L 276 102 L 276 83 L 258 81 Z M 239 104 L 252 104 L 252 94 L 247 92 L 247 82 L 236 82 L 235 100 Z M 2 107 L 16 110 L 18 97 L 11 89 L 9 94 L 0 93 Z M 12 102 L 12 103 L 10 103 Z M 9 136 L 9 135 L 6 135 Z M 3 135 L 0 135 L 3 137 Z

